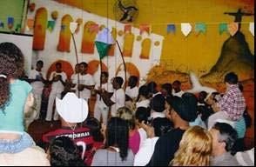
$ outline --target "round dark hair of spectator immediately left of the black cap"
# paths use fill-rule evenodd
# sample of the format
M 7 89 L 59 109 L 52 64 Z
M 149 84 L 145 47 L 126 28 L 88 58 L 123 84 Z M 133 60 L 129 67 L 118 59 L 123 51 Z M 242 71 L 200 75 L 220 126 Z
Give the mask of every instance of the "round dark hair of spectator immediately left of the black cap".
M 165 97 L 161 94 L 152 98 L 150 107 L 157 112 L 163 112 L 165 110 Z

